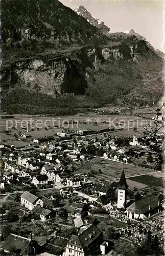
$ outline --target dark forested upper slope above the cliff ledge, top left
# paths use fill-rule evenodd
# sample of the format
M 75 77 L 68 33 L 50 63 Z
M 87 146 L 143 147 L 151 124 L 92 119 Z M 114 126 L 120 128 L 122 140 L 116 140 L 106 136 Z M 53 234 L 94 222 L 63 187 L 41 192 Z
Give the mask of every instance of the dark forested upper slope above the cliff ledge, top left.
M 58 0 L 2 0 L 2 40 L 44 40 L 62 45 L 106 42 L 96 27 Z

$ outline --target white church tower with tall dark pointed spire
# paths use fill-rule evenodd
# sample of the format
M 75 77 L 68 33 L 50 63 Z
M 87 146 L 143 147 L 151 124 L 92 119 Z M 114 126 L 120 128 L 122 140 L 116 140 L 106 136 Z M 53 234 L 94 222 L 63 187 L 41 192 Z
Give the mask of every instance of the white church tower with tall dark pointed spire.
M 125 208 L 127 202 L 127 181 L 124 174 L 124 170 L 121 175 L 121 179 L 118 185 L 118 195 L 117 195 L 117 208 Z

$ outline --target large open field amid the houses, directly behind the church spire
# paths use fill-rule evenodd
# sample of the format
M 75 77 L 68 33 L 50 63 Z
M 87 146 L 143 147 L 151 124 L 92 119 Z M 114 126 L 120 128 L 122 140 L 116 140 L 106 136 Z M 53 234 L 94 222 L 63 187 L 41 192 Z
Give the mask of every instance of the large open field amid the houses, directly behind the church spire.
M 153 170 L 138 167 L 138 166 L 133 166 L 130 164 L 124 164 L 122 162 L 103 159 L 101 157 L 95 157 L 91 159 L 90 161 L 85 163 L 80 169 L 78 169 L 75 172 L 75 174 L 84 174 L 84 173 L 88 174 L 91 170 L 98 171 L 99 169 L 101 169 L 102 174 L 96 175 L 95 177 L 90 177 L 91 181 L 93 182 L 119 181 L 122 170 L 124 169 L 129 187 L 144 188 L 144 187 L 147 187 L 148 185 L 153 185 L 151 183 L 148 184 L 144 182 L 145 179 L 148 179 L 148 176 L 152 177 L 150 176 L 150 174 L 153 173 Z M 158 174 L 158 173 L 154 173 L 154 175 L 155 174 Z M 161 180 L 162 178 L 155 178 L 155 180 L 156 179 Z

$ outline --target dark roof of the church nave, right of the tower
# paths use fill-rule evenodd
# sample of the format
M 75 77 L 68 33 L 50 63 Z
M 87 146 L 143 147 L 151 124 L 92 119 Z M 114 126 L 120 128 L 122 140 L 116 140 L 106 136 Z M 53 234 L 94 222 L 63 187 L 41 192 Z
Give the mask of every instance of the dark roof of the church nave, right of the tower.
M 146 214 L 156 207 L 158 207 L 158 198 L 152 194 L 151 196 L 143 197 L 142 199 L 135 201 L 127 208 L 127 210 L 134 212 L 134 214 Z

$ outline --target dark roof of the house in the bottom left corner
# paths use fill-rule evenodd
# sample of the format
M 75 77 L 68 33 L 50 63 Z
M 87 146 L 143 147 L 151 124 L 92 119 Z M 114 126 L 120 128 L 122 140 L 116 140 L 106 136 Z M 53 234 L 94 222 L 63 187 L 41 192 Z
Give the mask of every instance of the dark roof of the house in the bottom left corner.
M 12 251 L 14 247 L 17 253 L 22 254 L 31 241 L 31 239 L 20 237 L 16 234 L 9 234 L 1 248 L 7 251 Z

